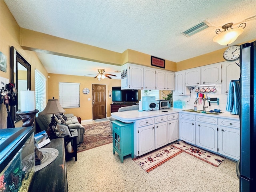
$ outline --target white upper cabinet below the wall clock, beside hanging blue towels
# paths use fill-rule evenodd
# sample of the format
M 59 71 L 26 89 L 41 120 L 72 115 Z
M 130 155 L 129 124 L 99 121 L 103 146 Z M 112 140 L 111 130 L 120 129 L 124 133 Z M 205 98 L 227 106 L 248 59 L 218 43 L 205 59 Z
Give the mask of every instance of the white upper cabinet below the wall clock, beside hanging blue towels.
M 240 78 L 240 67 L 236 62 L 238 63 L 239 60 L 222 62 L 222 94 L 228 94 L 231 80 L 238 80 Z

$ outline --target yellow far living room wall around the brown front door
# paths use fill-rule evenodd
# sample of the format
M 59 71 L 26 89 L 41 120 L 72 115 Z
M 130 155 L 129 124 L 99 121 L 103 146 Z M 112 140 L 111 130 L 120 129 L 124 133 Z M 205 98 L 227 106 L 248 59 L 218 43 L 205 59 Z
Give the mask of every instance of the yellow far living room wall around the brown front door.
M 80 83 L 80 108 L 68 108 L 65 109 L 65 113 L 72 113 L 75 116 L 81 117 L 82 120 L 92 119 L 92 84 L 106 85 L 107 117 L 110 117 L 110 104 L 112 104 L 112 98 L 108 97 L 108 90 L 112 90 L 112 86 L 121 86 L 121 80 L 105 78 L 98 81 L 96 78 L 94 79 L 92 77 L 61 74 L 49 74 L 49 76 L 49 98 L 54 97 L 55 99 L 59 99 L 59 82 Z M 83 94 L 83 88 L 89 88 L 90 93 L 88 95 Z M 88 101 L 88 98 L 91 100 Z

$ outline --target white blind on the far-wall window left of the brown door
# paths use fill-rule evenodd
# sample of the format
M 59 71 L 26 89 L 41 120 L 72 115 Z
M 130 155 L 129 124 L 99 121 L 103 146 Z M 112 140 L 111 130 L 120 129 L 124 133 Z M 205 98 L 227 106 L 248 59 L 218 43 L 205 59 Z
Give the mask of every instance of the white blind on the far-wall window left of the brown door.
M 59 82 L 59 102 L 62 108 L 80 107 L 80 83 Z

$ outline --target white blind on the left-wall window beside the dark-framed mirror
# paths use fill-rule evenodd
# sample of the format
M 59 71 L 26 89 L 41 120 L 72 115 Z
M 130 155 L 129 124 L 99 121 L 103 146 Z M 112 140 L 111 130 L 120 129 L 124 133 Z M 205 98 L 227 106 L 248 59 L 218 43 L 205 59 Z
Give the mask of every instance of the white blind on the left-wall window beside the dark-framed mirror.
M 44 110 L 46 107 L 46 78 L 38 70 L 35 70 L 35 98 L 36 109 L 39 111 Z

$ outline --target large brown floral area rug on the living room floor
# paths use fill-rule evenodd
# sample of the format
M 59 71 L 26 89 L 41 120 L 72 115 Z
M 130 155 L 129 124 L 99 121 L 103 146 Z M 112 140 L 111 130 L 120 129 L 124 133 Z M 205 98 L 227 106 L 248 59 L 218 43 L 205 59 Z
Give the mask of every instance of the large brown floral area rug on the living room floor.
M 112 143 L 110 121 L 83 125 L 85 128 L 84 142 L 77 147 L 77 152 L 82 152 L 101 145 Z

